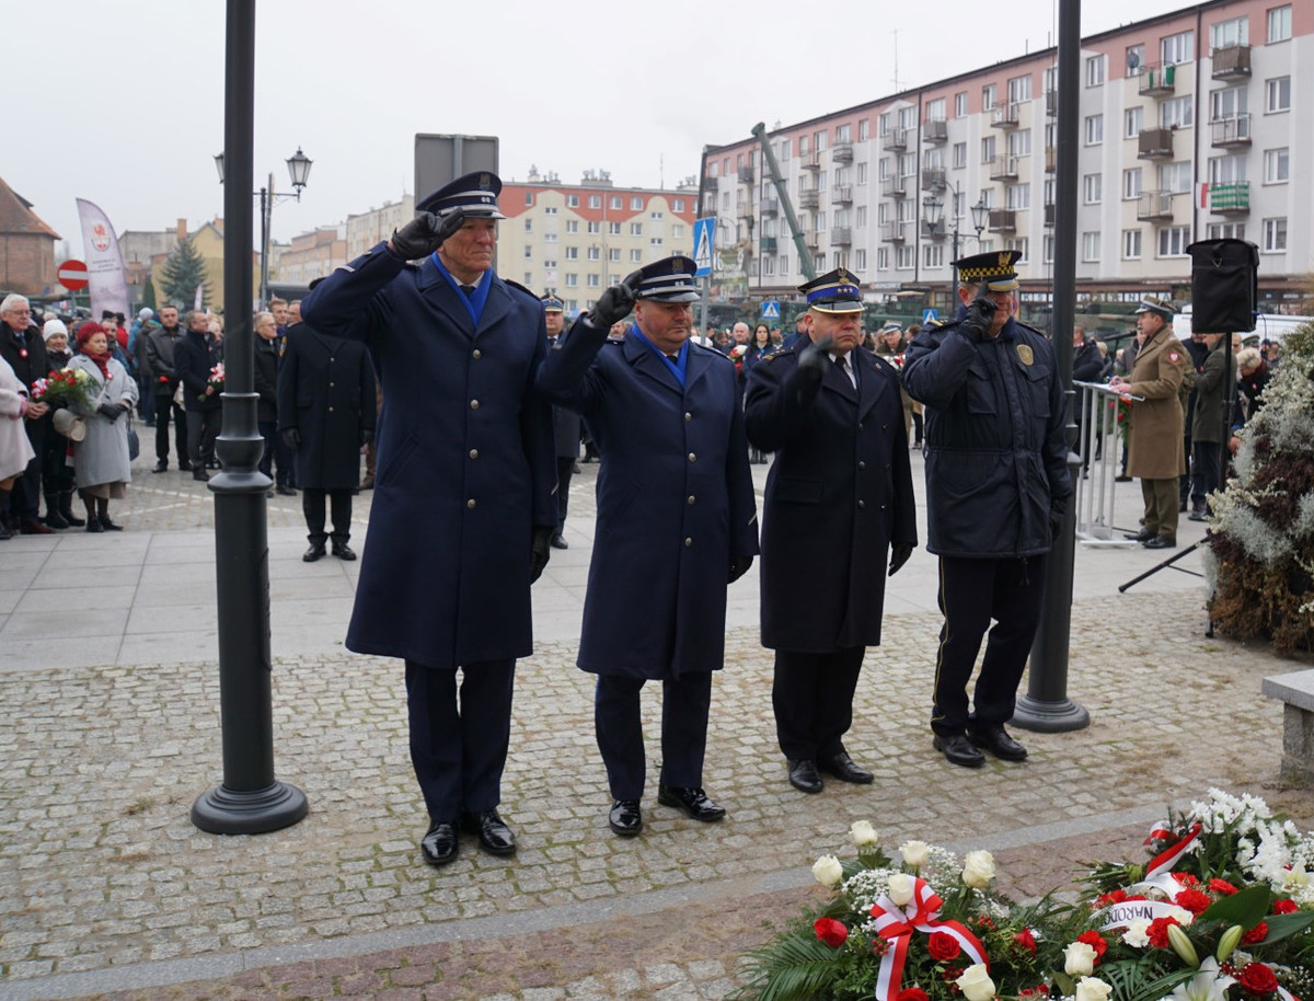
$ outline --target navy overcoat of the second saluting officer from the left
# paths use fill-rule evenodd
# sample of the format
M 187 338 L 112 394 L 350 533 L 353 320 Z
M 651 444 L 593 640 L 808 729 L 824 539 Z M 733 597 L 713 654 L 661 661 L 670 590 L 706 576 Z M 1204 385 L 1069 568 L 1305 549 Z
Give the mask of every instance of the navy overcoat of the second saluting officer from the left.
M 725 653 L 731 556 L 757 553 L 757 502 L 735 365 L 690 343 L 685 385 L 633 332 L 579 319 L 539 388 L 598 443 L 598 531 L 577 663 L 673 679 Z

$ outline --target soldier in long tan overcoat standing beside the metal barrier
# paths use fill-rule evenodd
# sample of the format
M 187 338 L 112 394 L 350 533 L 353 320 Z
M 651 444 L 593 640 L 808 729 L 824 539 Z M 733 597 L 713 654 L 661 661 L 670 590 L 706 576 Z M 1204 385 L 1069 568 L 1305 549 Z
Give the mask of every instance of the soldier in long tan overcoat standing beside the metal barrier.
M 1173 336 L 1172 315 L 1172 307 L 1163 302 L 1142 301 L 1137 332 L 1144 342 L 1127 377 L 1116 376 L 1110 382 L 1126 395 L 1141 397 L 1131 402 L 1127 474 L 1141 478 L 1146 511 L 1141 531 L 1127 539 L 1146 549 L 1177 545 L 1177 486 L 1187 472 L 1180 390 L 1192 363 Z

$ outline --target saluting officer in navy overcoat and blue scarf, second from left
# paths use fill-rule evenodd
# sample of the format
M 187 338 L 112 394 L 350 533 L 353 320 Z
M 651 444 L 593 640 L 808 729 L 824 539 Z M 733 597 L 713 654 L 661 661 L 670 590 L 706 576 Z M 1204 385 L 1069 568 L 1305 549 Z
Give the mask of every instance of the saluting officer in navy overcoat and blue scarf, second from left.
M 578 666 L 598 675 L 594 721 L 611 829 L 643 829 L 640 692 L 662 682 L 657 801 L 700 821 L 712 673 L 725 648 L 725 592 L 757 553 L 757 504 L 735 365 L 690 343 L 692 259 L 673 256 L 607 289 L 539 370 L 539 388 L 583 415 L 602 453 L 598 532 Z M 619 342 L 607 331 L 633 306 Z

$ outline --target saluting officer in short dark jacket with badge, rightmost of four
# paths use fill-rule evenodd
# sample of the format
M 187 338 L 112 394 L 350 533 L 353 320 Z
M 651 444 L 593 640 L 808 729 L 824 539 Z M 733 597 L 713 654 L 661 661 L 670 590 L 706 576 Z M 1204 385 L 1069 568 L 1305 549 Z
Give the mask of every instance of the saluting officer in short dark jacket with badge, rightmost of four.
M 1018 251 L 954 261 L 962 307 L 904 355 L 903 382 L 926 405 L 926 549 L 940 556 L 940 631 L 930 728 L 954 765 L 979 747 L 1005 761 L 1026 749 L 1004 724 L 1035 637 L 1045 557 L 1072 482 L 1063 385 L 1045 335 L 1013 318 Z M 971 678 L 991 619 L 986 658 Z

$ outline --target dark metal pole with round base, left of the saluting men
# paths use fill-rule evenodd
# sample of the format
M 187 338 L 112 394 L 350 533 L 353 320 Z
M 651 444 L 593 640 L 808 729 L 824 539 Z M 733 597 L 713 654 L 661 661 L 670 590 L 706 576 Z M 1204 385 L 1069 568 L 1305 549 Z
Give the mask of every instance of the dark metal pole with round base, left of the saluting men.
M 255 331 L 251 328 L 251 160 L 255 114 L 255 0 L 227 0 L 223 188 L 225 349 L 223 470 L 214 491 L 219 625 L 219 715 L 223 783 L 192 804 L 192 822 L 212 834 L 260 834 L 306 816 L 306 796 L 273 778 L 269 675 L 269 550 L 264 494 L 256 470 L 264 439 L 256 428 Z

